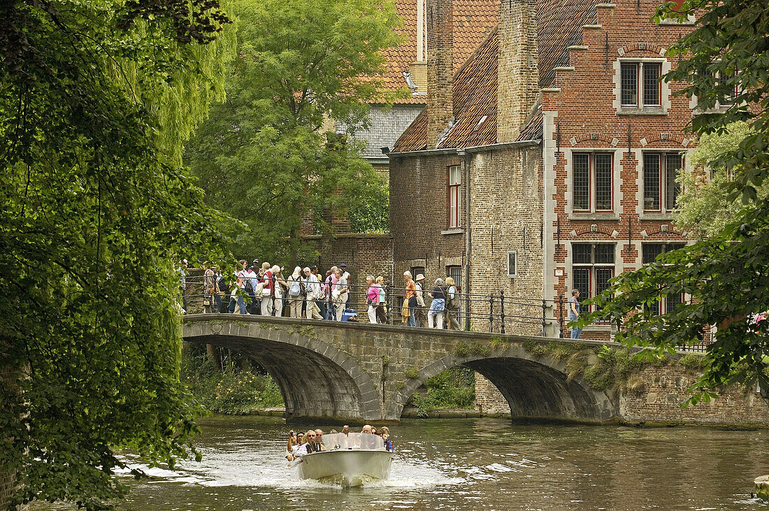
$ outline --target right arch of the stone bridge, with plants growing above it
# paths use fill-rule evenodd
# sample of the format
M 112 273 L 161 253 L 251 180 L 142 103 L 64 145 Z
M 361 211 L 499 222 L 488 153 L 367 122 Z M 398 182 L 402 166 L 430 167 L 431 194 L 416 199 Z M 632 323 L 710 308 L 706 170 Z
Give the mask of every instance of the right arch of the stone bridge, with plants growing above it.
M 417 378 L 404 383 L 387 415 L 400 417 L 418 387 L 451 367 L 465 366 L 491 381 L 508 401 L 514 420 L 574 420 L 603 423 L 614 419 L 611 397 L 594 390 L 580 377 L 569 379 L 566 364 L 532 357 L 524 348 L 511 346 L 490 355 L 448 355 L 428 364 Z

